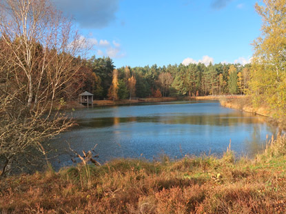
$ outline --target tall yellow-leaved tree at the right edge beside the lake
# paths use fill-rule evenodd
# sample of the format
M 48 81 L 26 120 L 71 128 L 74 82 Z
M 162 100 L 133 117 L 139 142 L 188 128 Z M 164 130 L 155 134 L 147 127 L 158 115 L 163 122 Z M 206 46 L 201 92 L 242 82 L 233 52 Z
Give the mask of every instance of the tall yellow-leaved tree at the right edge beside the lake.
M 254 104 L 265 102 L 277 116 L 286 115 L 286 1 L 256 3 L 263 24 L 254 41 L 254 57 L 249 82 Z

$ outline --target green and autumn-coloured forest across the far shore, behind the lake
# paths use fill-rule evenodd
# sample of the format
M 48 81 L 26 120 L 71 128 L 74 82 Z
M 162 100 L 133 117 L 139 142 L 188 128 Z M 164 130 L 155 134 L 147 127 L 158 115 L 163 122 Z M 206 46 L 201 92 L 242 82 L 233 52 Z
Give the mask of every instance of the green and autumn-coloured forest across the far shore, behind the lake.
M 249 90 L 251 65 L 175 64 L 159 67 L 125 66 L 115 68 L 109 57 L 85 61 L 84 90 L 95 99 L 132 97 L 181 97 L 206 95 L 245 95 Z

